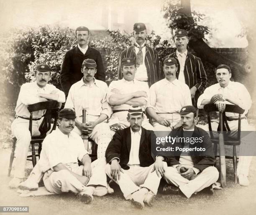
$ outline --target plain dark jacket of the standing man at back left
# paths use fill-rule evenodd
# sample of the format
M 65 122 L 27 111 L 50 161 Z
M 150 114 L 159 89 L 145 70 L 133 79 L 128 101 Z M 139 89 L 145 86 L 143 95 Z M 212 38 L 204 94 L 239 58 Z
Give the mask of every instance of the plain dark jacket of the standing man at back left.
M 82 79 L 83 74 L 81 72 L 81 68 L 85 59 L 95 60 L 97 64 L 97 73 L 95 74 L 95 78 L 105 82 L 105 69 L 100 51 L 88 46 L 86 53 L 83 54 L 78 46 L 76 46 L 74 49 L 67 51 L 61 65 L 60 82 L 66 97 L 72 84 Z

